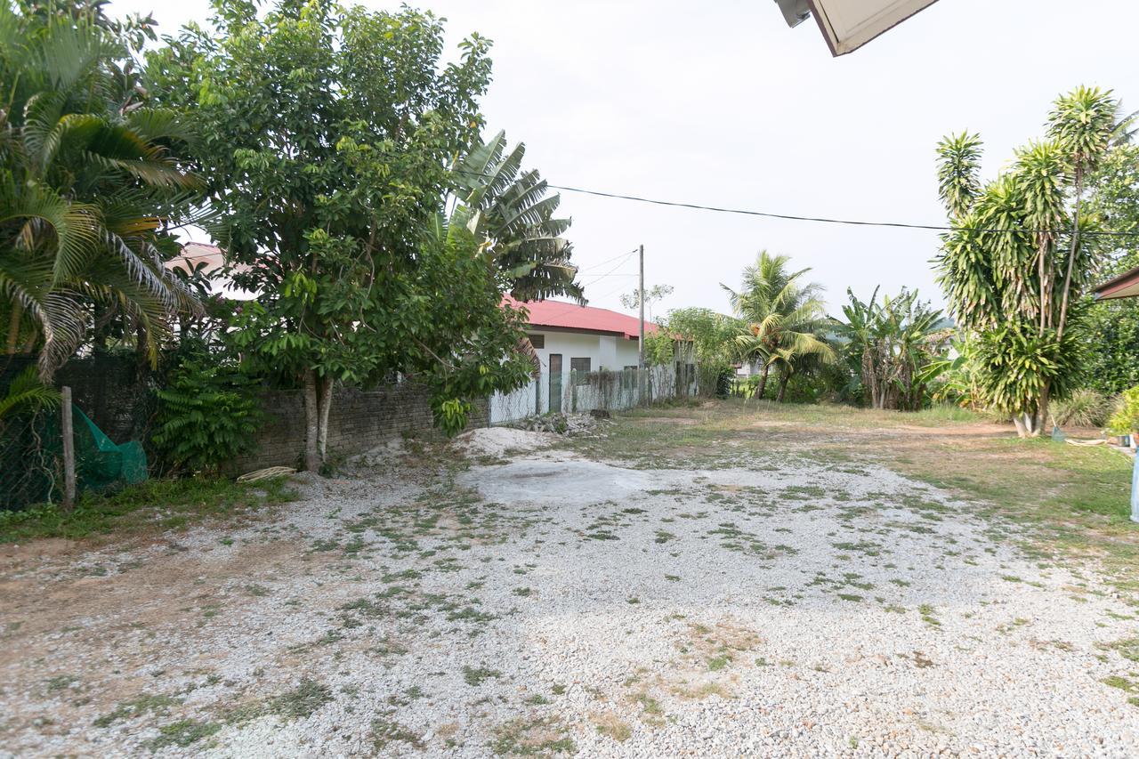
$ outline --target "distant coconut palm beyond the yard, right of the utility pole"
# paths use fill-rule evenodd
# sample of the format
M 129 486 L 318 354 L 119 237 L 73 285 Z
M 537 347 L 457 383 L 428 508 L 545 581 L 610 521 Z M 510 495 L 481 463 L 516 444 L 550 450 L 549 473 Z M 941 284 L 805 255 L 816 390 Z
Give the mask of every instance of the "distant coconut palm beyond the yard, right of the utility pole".
M 736 336 L 741 356 L 762 364 L 756 398 L 767 391 L 772 367 L 779 370 L 778 401 L 782 401 L 787 383 L 797 372 L 834 360 L 827 343 L 826 308 L 817 284 L 801 284 L 810 269 L 788 271 L 786 255 L 761 251 L 755 263 L 744 269 L 739 291 L 720 285 L 728 292 L 732 311 L 744 323 Z

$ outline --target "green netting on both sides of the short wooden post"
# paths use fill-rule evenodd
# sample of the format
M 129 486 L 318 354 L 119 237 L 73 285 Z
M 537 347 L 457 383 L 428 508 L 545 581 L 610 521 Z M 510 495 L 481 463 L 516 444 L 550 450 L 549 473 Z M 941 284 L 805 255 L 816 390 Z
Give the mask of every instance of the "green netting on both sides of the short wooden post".
M 115 444 L 72 406 L 76 490 L 105 490 L 147 479 L 146 452 L 136 440 Z M 0 446 L 0 508 L 58 500 L 63 489 L 59 413 L 6 423 Z

